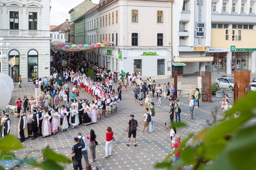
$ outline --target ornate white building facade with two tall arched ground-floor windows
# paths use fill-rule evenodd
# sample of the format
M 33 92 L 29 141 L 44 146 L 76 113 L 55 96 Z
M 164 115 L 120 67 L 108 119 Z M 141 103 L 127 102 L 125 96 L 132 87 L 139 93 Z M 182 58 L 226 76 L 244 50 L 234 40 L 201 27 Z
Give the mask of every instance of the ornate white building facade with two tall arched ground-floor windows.
M 3 53 L 3 72 L 15 82 L 32 81 L 33 77 L 50 76 L 50 1 L 0 2 L 0 35 L 11 45 Z M 15 66 L 9 59 L 15 56 Z

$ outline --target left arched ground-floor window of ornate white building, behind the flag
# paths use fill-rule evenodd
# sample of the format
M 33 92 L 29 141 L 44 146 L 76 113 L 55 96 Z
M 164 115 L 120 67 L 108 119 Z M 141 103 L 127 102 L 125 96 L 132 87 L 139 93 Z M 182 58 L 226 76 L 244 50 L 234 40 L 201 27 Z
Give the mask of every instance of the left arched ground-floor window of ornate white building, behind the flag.
M 13 78 L 14 82 L 19 82 L 20 75 L 20 53 L 17 50 L 11 50 L 9 52 L 9 60 L 15 57 L 15 65 L 13 67 L 9 66 L 9 76 Z

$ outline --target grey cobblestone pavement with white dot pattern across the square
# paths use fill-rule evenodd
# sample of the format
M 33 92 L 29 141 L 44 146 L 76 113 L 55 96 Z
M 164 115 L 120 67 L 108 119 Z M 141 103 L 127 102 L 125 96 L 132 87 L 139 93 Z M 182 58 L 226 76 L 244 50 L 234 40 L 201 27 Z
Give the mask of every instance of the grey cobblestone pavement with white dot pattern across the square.
M 166 79 L 167 80 L 167 79 Z M 181 79 L 184 82 L 190 84 L 197 84 L 196 76 L 187 76 Z M 163 82 L 165 80 L 156 80 L 156 82 Z M 173 81 L 169 79 L 168 81 Z M 70 89 L 73 85 L 69 83 Z M 114 85 L 117 89 L 116 85 Z M 33 84 L 32 83 L 22 83 L 22 88 L 18 88 L 15 85 L 13 97 L 27 95 L 29 98 L 33 94 Z M 152 96 L 151 91 L 149 94 Z M 85 94 L 85 92 L 80 93 L 83 99 L 92 100 L 93 97 Z M 43 149 L 44 144 L 48 143 L 50 148 L 59 154 L 71 156 L 71 146 L 74 145 L 73 138 L 77 136 L 78 132 L 81 132 L 83 136 L 89 135 L 91 129 L 95 130 L 97 135 L 98 146 L 96 146 L 96 159 L 92 166 L 98 166 L 100 170 L 153 170 L 154 165 L 171 153 L 169 130 L 165 127 L 165 122 L 170 124 L 168 99 L 162 99 L 162 106 L 156 106 L 156 116 L 155 116 L 155 132 L 137 133 L 137 147 L 134 147 L 133 139 L 131 138 L 130 146 L 127 147 L 127 137 L 128 132 L 126 132 L 126 126 L 130 119 L 129 115 L 134 114 L 135 119 L 138 121 L 139 127 L 137 132 L 140 132 L 143 125 L 143 113 L 145 106 L 139 106 L 139 103 L 134 102 L 134 92 L 131 87 L 128 87 L 128 91 L 125 92 L 122 88 L 122 101 L 119 104 L 119 108 L 115 115 L 110 118 L 102 117 L 102 120 L 98 120 L 95 124 L 89 124 L 87 126 L 77 126 L 75 129 L 69 128 L 67 131 L 57 133 L 56 135 L 47 136 L 45 138 L 38 137 L 37 139 L 31 141 L 31 137 L 27 138 L 23 144 L 23 150 L 15 151 L 15 155 L 18 158 L 23 157 L 33 157 L 37 161 L 41 161 L 41 149 Z M 185 128 L 177 129 L 177 135 L 181 136 L 181 140 L 184 140 L 187 135 L 191 132 L 198 132 L 205 127 L 210 126 L 207 121 L 212 122 L 213 117 L 211 112 L 216 108 L 217 110 L 217 120 L 221 120 L 223 116 L 221 115 L 220 101 L 213 97 L 213 103 L 200 102 L 200 107 L 195 108 L 194 120 L 190 121 L 189 108 L 187 101 L 188 97 L 178 97 L 181 102 L 181 121 L 187 124 Z M 156 98 L 152 98 L 156 104 L 158 103 Z M 233 103 L 233 99 L 230 100 Z M 17 136 L 17 126 L 19 119 L 11 117 L 11 134 Z M 254 123 L 254 122 L 251 122 Z M 106 128 L 111 126 L 116 141 L 112 145 L 112 156 L 108 158 L 103 158 L 105 154 L 105 133 Z M 146 131 L 145 131 L 146 132 Z M 88 156 L 91 159 L 89 151 L 89 141 L 86 141 L 88 148 Z M 193 144 L 192 140 L 188 144 Z M 82 159 L 82 165 L 85 166 L 85 161 Z M 72 170 L 72 164 L 66 165 L 66 170 Z M 20 167 L 19 169 L 32 170 L 35 167 Z M 186 170 L 190 170 L 190 166 L 185 166 Z

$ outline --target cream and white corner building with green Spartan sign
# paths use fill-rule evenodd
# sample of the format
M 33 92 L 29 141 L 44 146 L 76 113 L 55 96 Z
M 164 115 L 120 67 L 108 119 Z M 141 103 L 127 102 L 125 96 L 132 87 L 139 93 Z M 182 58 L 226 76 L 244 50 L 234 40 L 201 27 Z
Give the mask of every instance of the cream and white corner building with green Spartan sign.
M 169 0 L 108 0 L 99 4 L 100 66 L 147 77 L 171 75 L 171 5 Z M 121 54 L 121 59 L 118 59 Z

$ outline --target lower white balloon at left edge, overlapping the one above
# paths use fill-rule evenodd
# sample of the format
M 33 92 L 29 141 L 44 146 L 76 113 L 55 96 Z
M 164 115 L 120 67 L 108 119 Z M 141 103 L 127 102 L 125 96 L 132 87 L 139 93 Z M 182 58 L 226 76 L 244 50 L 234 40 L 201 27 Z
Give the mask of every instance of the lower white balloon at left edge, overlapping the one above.
M 0 110 L 2 110 L 11 101 L 11 90 L 3 80 L 0 80 L 0 87 Z

